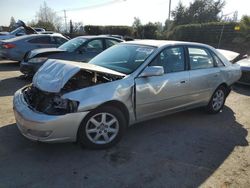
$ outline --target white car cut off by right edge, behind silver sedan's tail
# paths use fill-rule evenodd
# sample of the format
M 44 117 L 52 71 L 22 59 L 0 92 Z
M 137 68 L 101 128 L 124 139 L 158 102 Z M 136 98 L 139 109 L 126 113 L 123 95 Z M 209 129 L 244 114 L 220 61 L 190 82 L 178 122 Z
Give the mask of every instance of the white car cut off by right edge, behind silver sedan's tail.
M 242 59 L 237 62 L 240 65 L 242 76 L 238 83 L 250 85 L 250 57 Z

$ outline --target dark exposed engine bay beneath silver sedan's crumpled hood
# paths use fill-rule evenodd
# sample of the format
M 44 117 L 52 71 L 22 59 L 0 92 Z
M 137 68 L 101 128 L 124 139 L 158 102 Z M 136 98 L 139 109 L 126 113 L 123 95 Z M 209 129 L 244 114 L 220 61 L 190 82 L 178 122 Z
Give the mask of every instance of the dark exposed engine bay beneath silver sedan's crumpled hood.
M 48 115 L 63 115 L 76 112 L 79 105 L 78 101 L 62 98 L 63 94 L 121 78 L 120 76 L 105 73 L 80 70 L 69 79 L 59 93 L 42 91 L 34 85 L 25 87 L 22 92 L 25 101 L 33 110 Z

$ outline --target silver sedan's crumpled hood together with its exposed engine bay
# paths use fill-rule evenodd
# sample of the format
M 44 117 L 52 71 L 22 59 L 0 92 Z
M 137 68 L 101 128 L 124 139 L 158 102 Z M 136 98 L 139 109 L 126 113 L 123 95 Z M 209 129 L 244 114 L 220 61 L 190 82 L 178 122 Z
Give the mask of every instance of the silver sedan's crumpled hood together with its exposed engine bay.
M 55 60 L 46 62 L 34 76 L 33 84 L 22 90 L 29 108 L 48 115 L 74 113 L 79 101 L 64 98 L 64 94 L 123 77 L 99 72 L 91 65 L 79 66 Z

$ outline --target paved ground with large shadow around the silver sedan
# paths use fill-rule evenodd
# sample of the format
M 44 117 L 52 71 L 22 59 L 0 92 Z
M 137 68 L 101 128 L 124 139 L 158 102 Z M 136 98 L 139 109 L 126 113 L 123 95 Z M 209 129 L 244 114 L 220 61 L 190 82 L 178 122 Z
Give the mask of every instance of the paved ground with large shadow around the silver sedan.
M 0 188 L 250 187 L 250 87 L 235 85 L 224 110 L 189 110 L 131 127 L 107 150 L 24 138 L 12 97 L 30 81 L 0 62 Z

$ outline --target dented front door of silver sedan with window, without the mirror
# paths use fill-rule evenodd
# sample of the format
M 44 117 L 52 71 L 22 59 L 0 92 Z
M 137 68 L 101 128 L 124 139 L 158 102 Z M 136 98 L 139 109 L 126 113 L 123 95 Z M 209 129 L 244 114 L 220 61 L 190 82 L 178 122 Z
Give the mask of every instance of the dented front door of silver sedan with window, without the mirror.
M 155 116 L 188 105 L 189 72 L 184 48 L 166 48 L 149 66 L 162 66 L 164 75 L 135 79 L 137 118 Z

